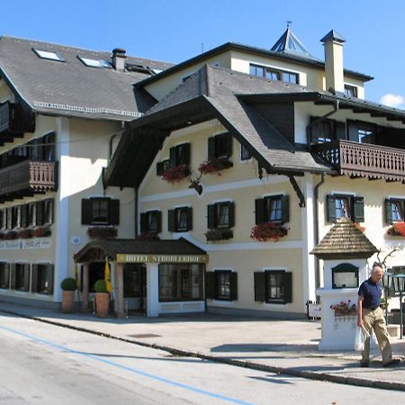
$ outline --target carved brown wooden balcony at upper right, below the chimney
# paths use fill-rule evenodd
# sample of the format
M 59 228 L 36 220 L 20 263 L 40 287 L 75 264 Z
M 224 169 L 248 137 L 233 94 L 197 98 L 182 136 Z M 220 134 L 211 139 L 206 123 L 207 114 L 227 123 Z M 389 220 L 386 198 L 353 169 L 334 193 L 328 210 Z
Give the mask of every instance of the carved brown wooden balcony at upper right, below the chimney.
M 339 175 L 405 182 L 405 150 L 338 140 L 312 146 Z

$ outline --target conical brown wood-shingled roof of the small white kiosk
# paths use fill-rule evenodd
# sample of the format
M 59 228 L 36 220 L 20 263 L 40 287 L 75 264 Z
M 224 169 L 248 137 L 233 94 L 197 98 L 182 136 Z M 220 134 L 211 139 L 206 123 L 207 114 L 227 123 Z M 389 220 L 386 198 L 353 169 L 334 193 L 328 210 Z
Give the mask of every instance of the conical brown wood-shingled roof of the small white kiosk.
M 346 217 L 340 218 L 311 251 L 321 259 L 368 258 L 378 252 L 365 234 Z

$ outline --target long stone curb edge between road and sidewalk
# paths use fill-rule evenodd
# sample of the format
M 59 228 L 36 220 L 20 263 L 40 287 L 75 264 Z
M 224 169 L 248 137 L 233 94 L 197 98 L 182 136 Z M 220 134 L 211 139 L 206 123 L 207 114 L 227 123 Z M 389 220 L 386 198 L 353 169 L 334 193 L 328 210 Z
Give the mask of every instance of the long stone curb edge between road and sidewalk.
M 342 375 L 328 374 L 328 373 L 316 373 L 316 372 L 302 371 L 302 370 L 299 370 L 296 368 L 279 367 L 279 366 L 275 366 L 275 365 L 260 365 L 258 363 L 253 363 L 251 361 L 236 360 L 236 359 L 232 359 L 229 357 L 211 356 L 211 355 L 207 355 L 205 353 L 190 352 L 190 351 L 178 349 L 175 347 L 158 345 L 156 343 L 146 343 L 146 342 L 142 342 L 140 340 L 120 338 L 120 337 L 111 335 L 109 333 L 103 333 L 103 332 L 99 332 L 99 331 L 93 330 L 93 329 L 76 327 L 76 326 L 69 325 L 69 324 L 66 324 L 63 322 L 58 322 L 56 320 L 47 320 L 47 319 L 40 318 L 40 317 L 24 315 L 22 313 L 18 313 L 18 312 L 14 312 L 14 311 L 0 310 L 0 312 L 4 312 L 8 315 L 14 315 L 14 316 L 18 316 L 20 318 L 25 318 L 28 320 L 37 320 L 39 322 L 47 323 L 49 325 L 54 325 L 54 326 L 58 326 L 61 328 L 73 329 L 73 330 L 77 330 L 79 332 L 90 333 L 92 335 L 97 335 L 97 336 L 100 336 L 103 338 L 111 338 L 114 340 L 119 340 L 121 342 L 138 345 L 140 347 L 149 347 L 149 348 L 154 348 L 157 350 L 163 350 L 163 351 L 170 353 L 173 356 L 201 358 L 202 360 L 209 360 L 209 361 L 215 362 L 215 363 L 221 363 L 221 364 L 225 364 L 225 365 L 235 365 L 238 367 L 244 367 L 244 368 L 249 368 L 252 370 L 265 371 L 265 372 L 275 373 L 275 374 L 292 375 L 294 377 L 301 377 L 301 378 L 305 378 L 308 380 L 405 392 L 405 383 L 386 382 L 386 381 L 379 381 L 379 380 L 367 380 L 365 378 L 360 378 L 360 377 L 345 377 Z

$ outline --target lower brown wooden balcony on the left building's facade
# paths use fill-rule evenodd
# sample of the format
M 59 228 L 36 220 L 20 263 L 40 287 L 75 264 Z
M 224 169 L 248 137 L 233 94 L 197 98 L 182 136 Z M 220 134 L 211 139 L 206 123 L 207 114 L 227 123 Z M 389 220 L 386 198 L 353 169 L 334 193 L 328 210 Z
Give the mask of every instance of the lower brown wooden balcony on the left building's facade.
M 58 163 L 24 160 L 0 170 L 0 202 L 58 190 Z

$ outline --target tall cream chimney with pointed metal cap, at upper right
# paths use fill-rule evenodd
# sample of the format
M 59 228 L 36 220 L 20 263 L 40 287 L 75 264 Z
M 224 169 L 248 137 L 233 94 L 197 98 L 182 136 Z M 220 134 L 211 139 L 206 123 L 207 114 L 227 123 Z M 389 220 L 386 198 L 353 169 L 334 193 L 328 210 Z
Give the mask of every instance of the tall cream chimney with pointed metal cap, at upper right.
M 345 92 L 343 77 L 343 44 L 346 40 L 335 30 L 329 31 L 321 40 L 325 47 L 326 90 L 332 93 Z

